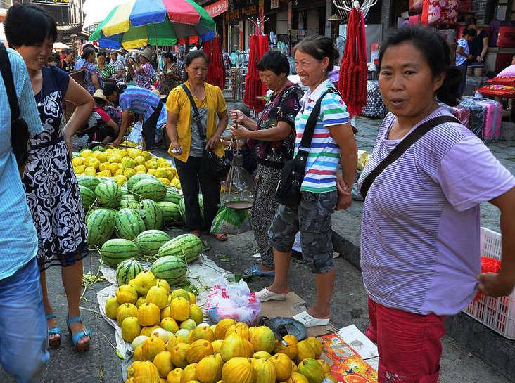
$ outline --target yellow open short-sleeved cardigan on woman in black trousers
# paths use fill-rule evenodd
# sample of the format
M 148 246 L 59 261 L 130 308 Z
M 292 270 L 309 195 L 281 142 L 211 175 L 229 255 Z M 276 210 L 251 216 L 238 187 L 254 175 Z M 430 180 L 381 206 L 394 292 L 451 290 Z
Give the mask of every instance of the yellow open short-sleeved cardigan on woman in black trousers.
M 189 89 L 188 82 L 185 84 Z M 227 110 L 227 105 L 225 105 L 224 95 L 218 86 L 213 86 L 204 82 L 204 87 L 204 100 L 198 100 L 198 98 L 193 95 L 192 96 L 197 108 L 204 108 L 205 106 L 208 108 L 208 126 L 206 126 L 205 136 L 206 139 L 209 140 L 217 130 L 217 113 Z M 186 92 L 182 89 L 182 86 L 177 86 L 170 91 L 170 95 L 166 101 L 166 110 L 177 115 L 177 135 L 179 136 L 179 145 L 182 147 L 182 153 L 180 155 L 174 155 L 174 153 L 172 153 L 172 145 L 168 148 L 168 152 L 170 155 L 177 158 L 177 160 L 186 162 L 188 160 L 189 149 L 191 146 L 191 103 L 189 102 L 188 96 L 186 96 Z M 222 157 L 222 155 L 224 155 L 224 148 L 221 143 L 218 143 L 213 151 L 218 157 Z

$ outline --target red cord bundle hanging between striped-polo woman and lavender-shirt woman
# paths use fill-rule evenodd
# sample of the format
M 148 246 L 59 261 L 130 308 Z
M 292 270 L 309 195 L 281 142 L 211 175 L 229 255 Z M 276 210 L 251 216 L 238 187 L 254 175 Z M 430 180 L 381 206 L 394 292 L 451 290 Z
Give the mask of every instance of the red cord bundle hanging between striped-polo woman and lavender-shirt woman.
M 359 115 L 367 104 L 367 41 L 363 13 L 355 8 L 349 16 L 338 90 L 350 117 Z

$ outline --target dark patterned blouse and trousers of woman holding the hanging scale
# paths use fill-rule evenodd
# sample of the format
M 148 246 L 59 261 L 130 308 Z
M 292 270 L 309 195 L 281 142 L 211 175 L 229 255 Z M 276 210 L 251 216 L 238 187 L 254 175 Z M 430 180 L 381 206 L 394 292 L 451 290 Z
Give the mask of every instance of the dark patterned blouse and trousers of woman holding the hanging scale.
M 299 100 L 302 96 L 303 91 L 298 86 L 287 86 L 281 93 L 268 100 L 258 120 L 259 130 L 273 128 L 279 121 L 288 123 L 292 128 L 288 137 L 280 141 L 248 140 L 249 148 L 253 148 L 258 156 L 258 182 L 255 186 L 250 218 L 261 253 L 261 264 L 270 269 L 274 268 L 274 253 L 268 244 L 268 229 L 279 207 L 275 190 L 281 178 L 284 162 L 293 158 L 295 115 L 300 110 Z

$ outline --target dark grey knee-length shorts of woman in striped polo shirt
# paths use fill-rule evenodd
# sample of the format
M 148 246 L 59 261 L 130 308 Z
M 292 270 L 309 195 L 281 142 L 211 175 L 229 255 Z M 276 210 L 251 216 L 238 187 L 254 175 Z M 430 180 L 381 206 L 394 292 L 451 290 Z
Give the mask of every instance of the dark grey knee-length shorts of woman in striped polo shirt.
M 269 244 L 279 252 L 289 252 L 300 231 L 303 258 L 315 274 L 334 268 L 331 242 L 331 213 L 336 207 L 338 192 L 302 192 L 298 208 L 279 205 L 268 231 Z

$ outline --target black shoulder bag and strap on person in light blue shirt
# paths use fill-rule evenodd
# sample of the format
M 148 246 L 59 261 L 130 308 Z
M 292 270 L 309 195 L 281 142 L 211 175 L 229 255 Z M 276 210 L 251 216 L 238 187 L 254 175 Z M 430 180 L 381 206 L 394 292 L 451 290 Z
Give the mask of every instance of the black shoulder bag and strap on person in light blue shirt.
M 14 88 L 11 61 L 4 44 L 0 44 L 0 72 L 4 78 L 6 93 L 11 108 L 11 146 L 16 157 L 16 163 L 20 174 L 23 173 L 25 162 L 29 158 L 29 126 L 23 118 L 20 118 L 20 105 Z

